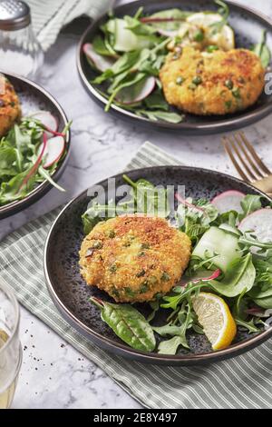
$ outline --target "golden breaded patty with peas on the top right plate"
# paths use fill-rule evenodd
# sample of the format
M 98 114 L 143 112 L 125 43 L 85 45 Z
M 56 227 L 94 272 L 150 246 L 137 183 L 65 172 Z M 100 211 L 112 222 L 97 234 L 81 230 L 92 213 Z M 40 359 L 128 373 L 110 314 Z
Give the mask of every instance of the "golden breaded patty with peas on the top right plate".
M 191 114 L 233 114 L 255 104 L 265 85 L 260 59 L 246 49 L 201 53 L 184 47 L 160 70 L 166 100 Z

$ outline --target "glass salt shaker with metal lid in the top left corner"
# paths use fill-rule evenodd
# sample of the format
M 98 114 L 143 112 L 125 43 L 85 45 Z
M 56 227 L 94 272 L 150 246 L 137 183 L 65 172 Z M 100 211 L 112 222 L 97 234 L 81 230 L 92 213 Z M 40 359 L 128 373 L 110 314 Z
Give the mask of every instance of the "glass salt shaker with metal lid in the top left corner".
M 0 72 L 34 78 L 43 62 L 29 6 L 22 1 L 0 0 Z

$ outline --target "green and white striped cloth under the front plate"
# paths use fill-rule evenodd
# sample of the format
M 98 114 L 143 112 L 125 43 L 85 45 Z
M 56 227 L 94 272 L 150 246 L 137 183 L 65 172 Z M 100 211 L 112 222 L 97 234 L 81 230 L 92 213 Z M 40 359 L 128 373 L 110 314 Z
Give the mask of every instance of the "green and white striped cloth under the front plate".
M 161 164 L 180 162 L 146 143 L 127 169 Z M 20 303 L 148 408 L 272 407 L 272 340 L 227 362 L 172 368 L 106 353 L 71 328 L 54 307 L 44 283 L 44 241 L 59 212 L 56 209 L 24 225 L 0 243 L 0 281 L 14 288 Z

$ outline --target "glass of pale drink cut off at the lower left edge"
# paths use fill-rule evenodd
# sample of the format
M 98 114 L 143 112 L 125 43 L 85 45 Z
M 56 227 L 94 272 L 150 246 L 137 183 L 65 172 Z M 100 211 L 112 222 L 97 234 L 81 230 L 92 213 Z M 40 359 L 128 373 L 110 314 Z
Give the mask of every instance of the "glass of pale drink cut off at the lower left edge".
M 0 409 L 11 406 L 22 363 L 18 337 L 19 306 L 12 290 L 0 283 Z

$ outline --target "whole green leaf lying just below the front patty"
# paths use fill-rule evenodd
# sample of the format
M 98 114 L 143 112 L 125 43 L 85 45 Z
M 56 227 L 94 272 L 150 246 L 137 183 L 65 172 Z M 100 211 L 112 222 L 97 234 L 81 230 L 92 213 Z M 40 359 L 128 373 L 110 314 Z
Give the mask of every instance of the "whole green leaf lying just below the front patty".
M 132 305 L 106 303 L 97 298 L 90 301 L 101 310 L 102 321 L 124 343 L 141 352 L 151 353 L 155 349 L 156 340 L 151 325 Z

